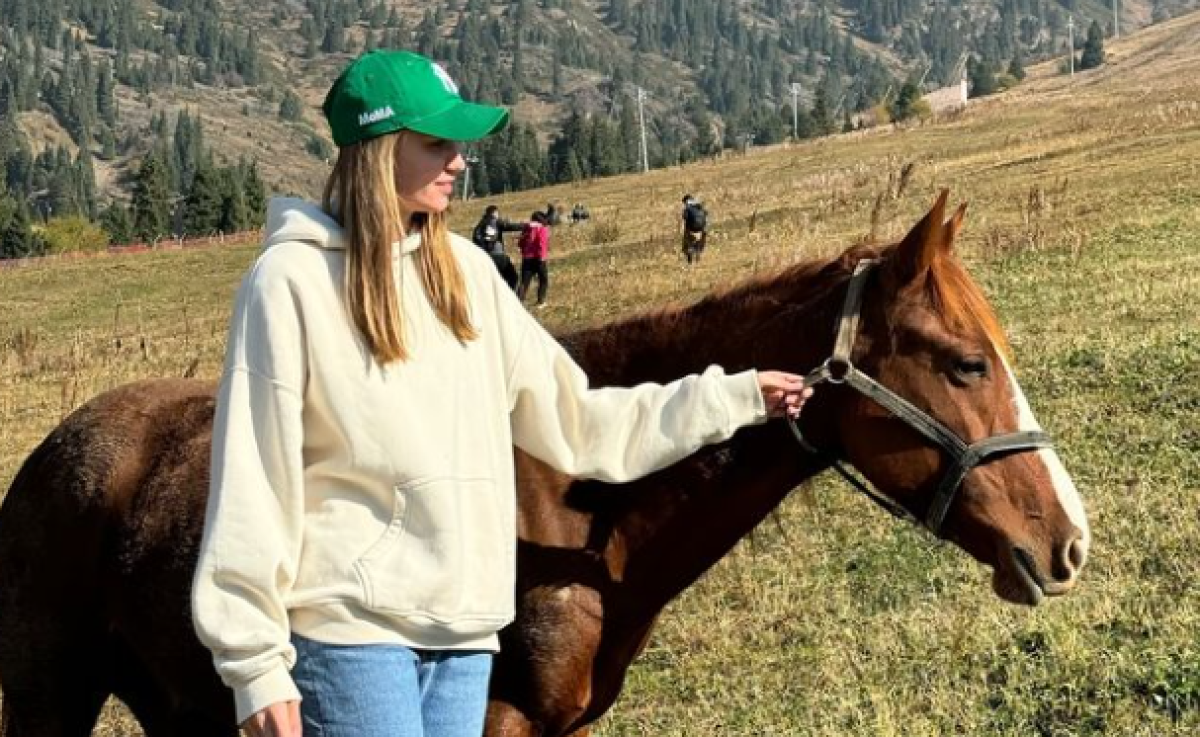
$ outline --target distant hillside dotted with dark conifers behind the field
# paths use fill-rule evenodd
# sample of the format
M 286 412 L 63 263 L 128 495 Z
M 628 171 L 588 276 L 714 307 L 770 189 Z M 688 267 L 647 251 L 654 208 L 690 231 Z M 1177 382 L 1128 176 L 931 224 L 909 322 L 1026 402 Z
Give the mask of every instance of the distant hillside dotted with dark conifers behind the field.
M 1129 32 L 1195 5 L 1128 0 L 1121 28 Z M 1110 5 L 1099 0 L 161 0 L 118 6 L 120 12 L 101 7 L 6 0 L 0 16 L 8 31 L 0 36 L 0 77 L 7 78 L 0 115 L 19 122 L 34 156 L 61 145 L 76 157 L 85 145 L 97 210 L 128 198 L 140 161 L 161 136 L 155 118 L 179 110 L 200 121 L 218 163 L 257 161 L 269 190 L 316 193 L 330 154 L 322 96 L 348 59 L 374 46 L 443 60 L 469 96 L 511 104 L 542 145 L 571 113 L 629 124 L 642 86 L 659 166 L 734 146 L 744 136 L 760 144 L 782 139 L 792 82 L 802 84 L 803 125 L 815 126 L 804 134 L 815 134 L 894 95 L 906 78 L 955 80 L 967 56 L 1002 71 L 1014 55 L 1060 55 L 1068 13 L 1076 16 L 1076 44 L 1091 19 L 1111 26 Z M 65 80 L 68 37 L 78 46 L 72 56 L 88 55 L 91 71 L 77 77 L 72 65 Z M 103 65 L 114 70 L 115 84 L 95 90 Z M 107 95 L 113 112 L 76 109 L 60 98 L 72 91 Z M 290 95 L 300 109 L 281 118 Z M 624 138 L 625 150 L 598 173 L 638 168 L 636 146 Z M 0 136 L 0 156 L 6 145 Z M 539 166 L 553 168 L 553 156 Z M 485 174 L 475 180 L 481 193 L 538 184 L 499 167 Z M 44 199 L 53 194 L 48 186 L 31 194 Z

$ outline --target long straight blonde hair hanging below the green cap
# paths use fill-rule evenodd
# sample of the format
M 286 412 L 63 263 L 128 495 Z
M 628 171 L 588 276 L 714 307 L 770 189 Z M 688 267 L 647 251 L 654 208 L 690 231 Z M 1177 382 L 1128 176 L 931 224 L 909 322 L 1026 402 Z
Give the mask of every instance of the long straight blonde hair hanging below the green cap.
M 346 235 L 346 306 L 380 364 L 406 361 L 403 313 L 392 271 L 392 244 L 407 234 L 407 215 L 396 194 L 396 152 L 403 131 L 338 149 L 325 182 L 322 208 Z M 434 314 L 461 342 L 478 332 L 470 323 L 467 284 L 450 250 L 444 212 L 419 214 L 418 272 Z

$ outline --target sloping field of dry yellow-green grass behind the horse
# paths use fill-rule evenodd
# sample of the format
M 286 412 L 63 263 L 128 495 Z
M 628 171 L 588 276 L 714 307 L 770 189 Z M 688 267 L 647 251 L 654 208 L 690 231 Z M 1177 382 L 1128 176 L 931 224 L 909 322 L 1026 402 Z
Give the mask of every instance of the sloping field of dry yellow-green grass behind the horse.
M 544 318 L 569 329 L 895 238 L 949 187 L 1092 520 L 1079 591 L 1016 609 L 959 551 L 820 480 L 671 607 L 600 735 L 1200 733 L 1200 14 L 1109 50 L 924 126 L 496 200 L 592 209 L 554 233 Z M 690 270 L 685 191 L 713 223 Z M 0 483 L 103 389 L 216 376 L 254 252 L 0 272 Z M 139 732 L 114 706 L 102 733 Z

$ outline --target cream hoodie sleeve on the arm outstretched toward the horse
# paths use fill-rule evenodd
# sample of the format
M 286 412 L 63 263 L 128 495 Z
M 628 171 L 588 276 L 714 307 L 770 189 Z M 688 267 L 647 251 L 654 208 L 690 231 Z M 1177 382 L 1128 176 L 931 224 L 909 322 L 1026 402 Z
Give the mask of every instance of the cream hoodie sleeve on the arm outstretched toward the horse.
M 512 438 L 563 473 L 629 481 L 767 417 L 755 371 L 727 376 L 709 366 L 670 384 L 592 389 L 558 341 L 516 306 L 527 326 L 509 379 Z

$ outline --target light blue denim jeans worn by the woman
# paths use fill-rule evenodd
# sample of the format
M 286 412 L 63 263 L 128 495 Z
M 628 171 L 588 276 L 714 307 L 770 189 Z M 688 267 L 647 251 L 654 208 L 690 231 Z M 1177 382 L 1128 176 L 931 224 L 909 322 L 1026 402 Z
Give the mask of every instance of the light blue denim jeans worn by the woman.
M 492 653 L 292 636 L 304 737 L 479 737 Z

